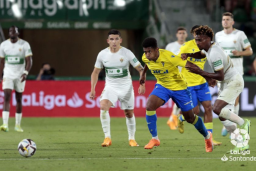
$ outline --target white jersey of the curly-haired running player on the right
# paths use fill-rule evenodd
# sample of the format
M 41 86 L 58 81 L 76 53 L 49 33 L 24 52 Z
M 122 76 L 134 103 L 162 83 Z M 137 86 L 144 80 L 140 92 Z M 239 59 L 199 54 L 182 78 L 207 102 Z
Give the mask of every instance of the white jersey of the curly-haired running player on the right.
M 237 70 L 233 67 L 233 63 L 229 55 L 218 44 L 213 43 L 208 51 L 205 52 L 205 55 L 213 71 L 223 69 L 224 80 L 230 79 L 237 73 Z

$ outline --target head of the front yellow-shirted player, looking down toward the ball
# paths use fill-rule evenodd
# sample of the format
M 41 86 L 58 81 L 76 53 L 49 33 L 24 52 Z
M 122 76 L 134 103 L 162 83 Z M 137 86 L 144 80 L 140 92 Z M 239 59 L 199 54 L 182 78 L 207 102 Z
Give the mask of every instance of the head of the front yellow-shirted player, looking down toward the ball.
M 148 60 L 155 60 L 159 56 L 157 41 L 153 37 L 147 37 L 142 42 L 143 51 Z

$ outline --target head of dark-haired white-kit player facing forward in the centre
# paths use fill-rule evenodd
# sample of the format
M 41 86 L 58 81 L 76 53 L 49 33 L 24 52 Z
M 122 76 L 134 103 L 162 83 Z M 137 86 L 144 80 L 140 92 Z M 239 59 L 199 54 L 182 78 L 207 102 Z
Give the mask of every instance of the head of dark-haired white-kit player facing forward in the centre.
M 107 43 L 109 44 L 110 48 L 119 48 L 120 47 L 120 43 L 122 42 L 121 39 L 121 33 L 116 30 L 116 29 L 111 29 L 108 33 L 107 33 L 107 39 L 106 39 Z

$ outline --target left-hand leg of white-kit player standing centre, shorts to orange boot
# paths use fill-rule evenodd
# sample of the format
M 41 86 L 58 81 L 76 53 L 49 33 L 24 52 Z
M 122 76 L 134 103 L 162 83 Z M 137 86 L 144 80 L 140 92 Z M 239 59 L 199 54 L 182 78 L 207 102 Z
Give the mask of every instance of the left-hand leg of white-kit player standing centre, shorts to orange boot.
M 109 146 L 112 144 L 111 135 L 110 135 L 110 116 L 109 108 L 114 106 L 114 103 L 117 101 L 117 94 L 113 88 L 105 86 L 99 99 L 100 105 L 100 121 L 102 130 L 104 132 L 105 138 L 101 146 Z

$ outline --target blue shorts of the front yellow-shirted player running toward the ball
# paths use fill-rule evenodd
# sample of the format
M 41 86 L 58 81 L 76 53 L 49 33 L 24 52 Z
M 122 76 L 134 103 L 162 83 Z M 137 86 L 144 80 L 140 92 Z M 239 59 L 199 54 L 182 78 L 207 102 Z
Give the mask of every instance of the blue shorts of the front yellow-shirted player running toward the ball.
M 188 88 L 172 91 L 156 83 L 149 96 L 150 95 L 156 95 L 157 97 L 161 98 L 164 101 L 162 105 L 164 105 L 171 98 L 176 103 L 177 107 L 181 109 L 181 111 L 188 111 L 194 108 L 191 93 Z

